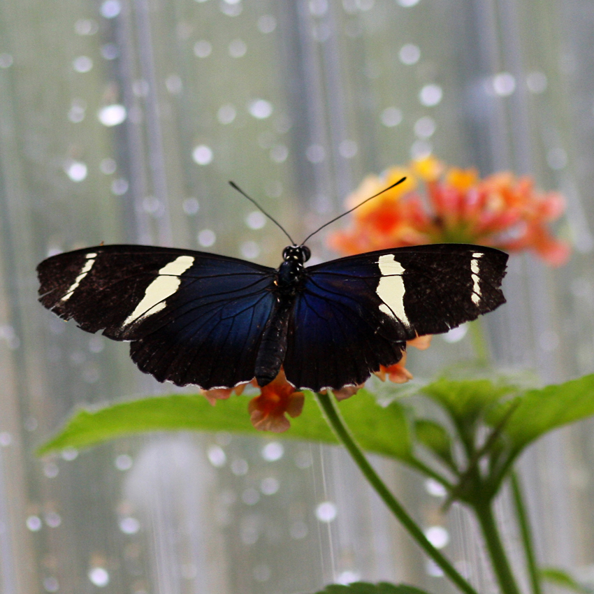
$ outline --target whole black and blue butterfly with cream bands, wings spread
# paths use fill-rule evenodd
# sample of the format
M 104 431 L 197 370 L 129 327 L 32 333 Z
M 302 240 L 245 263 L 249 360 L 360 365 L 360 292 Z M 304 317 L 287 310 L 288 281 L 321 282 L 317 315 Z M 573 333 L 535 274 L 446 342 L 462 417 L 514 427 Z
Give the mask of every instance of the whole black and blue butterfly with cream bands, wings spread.
M 505 298 L 507 254 L 472 245 L 404 247 L 306 267 L 305 245 L 279 268 L 190 250 L 108 245 L 38 266 L 40 300 L 88 332 L 131 342 L 159 381 L 203 389 L 281 366 L 297 388 L 361 384 L 400 361 L 407 340 L 446 332 Z

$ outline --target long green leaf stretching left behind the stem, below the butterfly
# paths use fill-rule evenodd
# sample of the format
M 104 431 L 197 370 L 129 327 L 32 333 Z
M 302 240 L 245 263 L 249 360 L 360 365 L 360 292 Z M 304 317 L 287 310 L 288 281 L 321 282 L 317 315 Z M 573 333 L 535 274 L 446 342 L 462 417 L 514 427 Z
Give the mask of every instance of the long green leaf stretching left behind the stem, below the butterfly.
M 270 439 L 270 433 L 249 422 L 245 396 L 221 400 L 213 407 L 204 396 L 173 394 L 117 403 L 95 410 L 79 410 L 38 454 L 67 447 L 81 448 L 116 437 L 164 430 L 230 431 Z M 410 459 L 412 444 L 405 412 L 398 402 L 380 406 L 365 390 L 340 403 L 340 412 L 363 449 L 400 460 Z M 338 444 L 312 393 L 306 393 L 303 413 L 291 428 L 275 434 L 287 439 Z

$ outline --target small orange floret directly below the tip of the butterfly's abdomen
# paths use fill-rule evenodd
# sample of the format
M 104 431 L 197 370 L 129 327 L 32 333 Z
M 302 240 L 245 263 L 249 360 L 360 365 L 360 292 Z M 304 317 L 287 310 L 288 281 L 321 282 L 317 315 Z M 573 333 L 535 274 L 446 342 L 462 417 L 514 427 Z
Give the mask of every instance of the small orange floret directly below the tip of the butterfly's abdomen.
M 270 384 L 263 386 L 260 396 L 249 401 L 247 410 L 256 429 L 282 433 L 291 425 L 285 413 L 293 418 L 299 416 L 304 402 L 303 392 L 295 391 L 281 369 Z

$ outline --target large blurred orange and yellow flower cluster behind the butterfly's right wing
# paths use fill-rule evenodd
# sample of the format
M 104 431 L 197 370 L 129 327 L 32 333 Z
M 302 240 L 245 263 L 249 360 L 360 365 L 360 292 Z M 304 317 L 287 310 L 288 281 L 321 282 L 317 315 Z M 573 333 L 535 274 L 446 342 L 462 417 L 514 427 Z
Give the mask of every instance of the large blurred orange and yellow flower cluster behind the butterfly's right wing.
M 551 266 L 567 261 L 570 247 L 549 224 L 563 213 L 563 196 L 543 194 L 531 178 L 500 172 L 481 179 L 475 169 L 448 168 L 435 157 L 370 176 L 347 198 L 352 208 L 401 175 L 407 180 L 354 211 L 350 229 L 330 236 L 343 254 L 425 243 L 474 243 L 506 252 L 530 250 Z M 423 196 L 417 191 L 423 189 Z

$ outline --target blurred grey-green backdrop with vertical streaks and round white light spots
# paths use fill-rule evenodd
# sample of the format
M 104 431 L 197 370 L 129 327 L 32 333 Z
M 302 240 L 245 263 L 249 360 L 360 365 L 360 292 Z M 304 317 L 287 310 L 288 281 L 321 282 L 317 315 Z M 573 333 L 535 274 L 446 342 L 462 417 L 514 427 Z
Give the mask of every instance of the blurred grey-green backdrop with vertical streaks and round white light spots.
M 300 240 L 364 175 L 433 153 L 563 192 L 570 263 L 513 256 L 508 304 L 487 325 L 501 365 L 542 382 L 592 372 L 594 5 L 0 0 L 0 11 L 1 591 L 291 594 L 356 579 L 454 591 L 338 449 L 184 433 L 36 458 L 75 407 L 173 386 L 140 373 L 126 345 L 43 310 L 35 267 L 101 241 L 277 266 L 286 239 L 228 180 Z M 310 247 L 316 261 L 333 255 L 324 232 Z M 468 337 L 437 338 L 407 367 L 430 377 L 470 352 Z M 456 567 L 495 592 L 464 510 L 443 516 L 435 485 L 375 462 Z M 539 560 L 594 581 L 592 424 L 548 437 L 520 466 Z M 498 512 L 507 525 L 505 493 Z

